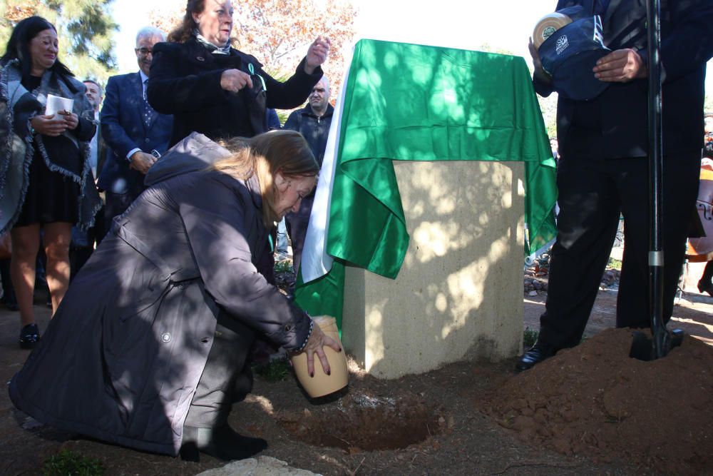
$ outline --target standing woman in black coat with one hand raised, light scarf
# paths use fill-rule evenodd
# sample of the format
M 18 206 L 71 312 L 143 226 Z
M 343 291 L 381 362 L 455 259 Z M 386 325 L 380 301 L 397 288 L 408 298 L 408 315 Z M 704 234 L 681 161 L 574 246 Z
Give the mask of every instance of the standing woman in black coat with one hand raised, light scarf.
M 173 114 L 172 145 L 193 131 L 212 139 L 265 132 L 267 108 L 300 106 L 322 77 L 328 39 L 317 38 L 281 83 L 231 48 L 232 14 L 230 0 L 188 0 L 181 26 L 153 48 L 148 101 Z

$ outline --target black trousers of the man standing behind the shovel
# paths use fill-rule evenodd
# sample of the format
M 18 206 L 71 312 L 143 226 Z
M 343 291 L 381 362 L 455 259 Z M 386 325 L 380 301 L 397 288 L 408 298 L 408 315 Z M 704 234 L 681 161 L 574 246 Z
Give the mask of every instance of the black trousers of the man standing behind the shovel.
M 664 158 L 662 240 L 664 319 L 673 310 L 689 218 L 698 193 L 700 154 Z M 617 327 L 646 328 L 649 313 L 648 159 L 560 157 L 558 238 L 553 246 L 540 341 L 577 345 L 597 297 L 624 216 L 624 255 L 617 297 Z

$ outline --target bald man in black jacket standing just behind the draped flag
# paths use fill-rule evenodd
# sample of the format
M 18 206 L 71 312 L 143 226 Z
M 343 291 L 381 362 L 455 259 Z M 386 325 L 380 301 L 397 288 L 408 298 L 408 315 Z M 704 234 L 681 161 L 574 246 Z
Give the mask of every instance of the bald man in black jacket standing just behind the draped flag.
M 329 80 L 327 76 L 322 76 L 309 93 L 309 104 L 302 109 L 292 111 L 283 127 L 304 136 L 320 167 L 324 160 L 324 149 L 327 148 L 329 128 L 332 126 L 332 113 L 334 108 L 329 104 Z M 312 203 L 314 203 L 314 191 L 302 199 L 297 213 L 288 213 L 285 217 L 287 233 L 292 240 L 292 263 L 295 273 L 299 270 L 299 263 L 302 260 L 302 247 L 304 237 L 307 236 Z

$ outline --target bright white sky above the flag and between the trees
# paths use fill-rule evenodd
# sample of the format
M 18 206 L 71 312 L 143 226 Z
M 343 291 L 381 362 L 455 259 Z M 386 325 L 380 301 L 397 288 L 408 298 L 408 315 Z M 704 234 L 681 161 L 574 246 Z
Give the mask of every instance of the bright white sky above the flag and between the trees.
M 354 0 L 359 9 L 357 36 L 406 43 L 451 46 L 461 49 L 511 51 L 530 62 L 528 38 L 555 0 L 472 1 Z M 133 52 L 135 34 L 148 24 L 148 12 L 157 7 L 181 6 L 183 0 L 115 0 L 114 19 L 120 25 L 116 53 L 120 73 L 138 71 Z M 246 51 L 250 53 L 250 51 Z M 713 69 L 709 62 L 708 69 Z M 713 74 L 706 79 L 713 91 Z

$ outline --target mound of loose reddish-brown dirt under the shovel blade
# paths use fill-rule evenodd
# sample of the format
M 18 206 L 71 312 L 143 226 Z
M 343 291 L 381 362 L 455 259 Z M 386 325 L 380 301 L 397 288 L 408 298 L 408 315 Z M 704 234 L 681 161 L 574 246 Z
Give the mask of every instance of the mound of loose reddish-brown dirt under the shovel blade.
M 688 336 L 666 358 L 629 357 L 609 329 L 511 379 L 485 412 L 523 441 L 564 455 L 621 457 L 667 474 L 713 465 L 713 348 Z

